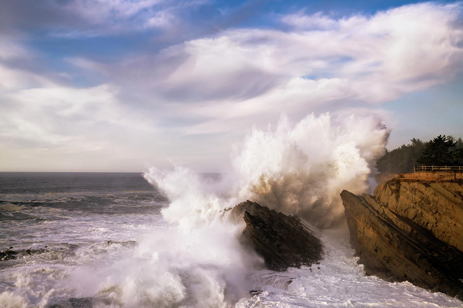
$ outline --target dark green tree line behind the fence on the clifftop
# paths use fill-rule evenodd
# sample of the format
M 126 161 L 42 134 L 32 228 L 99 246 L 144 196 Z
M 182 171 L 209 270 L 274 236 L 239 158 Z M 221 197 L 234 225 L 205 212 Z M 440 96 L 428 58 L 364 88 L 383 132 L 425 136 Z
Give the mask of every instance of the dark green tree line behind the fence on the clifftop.
M 413 172 L 414 165 L 459 166 L 463 165 L 463 140 L 453 136 L 439 135 L 423 142 L 413 138 L 411 143 L 393 149 L 386 149 L 376 166 L 381 173 Z

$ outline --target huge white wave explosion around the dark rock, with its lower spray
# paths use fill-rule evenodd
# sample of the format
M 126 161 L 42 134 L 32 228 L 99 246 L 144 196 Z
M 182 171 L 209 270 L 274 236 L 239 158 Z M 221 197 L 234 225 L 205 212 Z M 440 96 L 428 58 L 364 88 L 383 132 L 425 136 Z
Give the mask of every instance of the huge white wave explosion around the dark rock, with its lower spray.
M 246 295 L 247 277 L 262 260 L 241 247 L 238 235 L 244 224 L 222 219 L 223 210 L 250 199 L 329 227 L 343 217 L 341 190 L 357 194 L 368 188 L 367 178 L 387 138 L 387 129 L 373 117 L 309 114 L 292 125 L 282 116 L 275 130 L 253 129 L 234 149 L 219 182 L 204 181 L 180 166 L 172 171 L 151 168 L 145 178 L 169 197 L 162 213 L 173 227 L 140 244 L 139 254 L 151 261 L 124 271 L 125 282 L 119 283 L 133 280 L 123 288 L 123 294 L 129 292 L 124 298 L 166 307 L 236 302 Z M 134 287 L 135 281 L 150 286 Z

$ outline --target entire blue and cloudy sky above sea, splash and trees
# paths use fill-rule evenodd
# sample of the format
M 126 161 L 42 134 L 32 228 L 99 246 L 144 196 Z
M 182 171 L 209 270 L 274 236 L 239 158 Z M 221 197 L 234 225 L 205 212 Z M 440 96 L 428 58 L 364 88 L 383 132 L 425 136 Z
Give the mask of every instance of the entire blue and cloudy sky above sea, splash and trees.
M 281 114 L 463 137 L 463 3 L 1 0 L 0 171 L 221 171 Z

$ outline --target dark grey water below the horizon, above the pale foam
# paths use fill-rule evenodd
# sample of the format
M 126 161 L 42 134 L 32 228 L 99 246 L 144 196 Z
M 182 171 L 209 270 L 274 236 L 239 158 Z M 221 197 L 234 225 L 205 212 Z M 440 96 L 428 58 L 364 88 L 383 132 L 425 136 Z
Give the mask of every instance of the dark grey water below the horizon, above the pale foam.
M 0 172 L 0 249 L 53 241 L 57 229 L 72 228 L 76 219 L 159 215 L 166 204 L 139 173 Z

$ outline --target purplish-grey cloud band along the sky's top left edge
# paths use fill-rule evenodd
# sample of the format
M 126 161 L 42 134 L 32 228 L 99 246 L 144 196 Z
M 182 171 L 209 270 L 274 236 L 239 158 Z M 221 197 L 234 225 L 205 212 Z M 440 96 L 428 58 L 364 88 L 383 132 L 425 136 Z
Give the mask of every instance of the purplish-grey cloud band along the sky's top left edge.
M 173 31 L 183 14 L 206 0 L 5 0 L 0 29 L 35 28 L 55 37 L 96 37 L 157 29 Z M 14 17 L 13 17 L 14 16 Z

